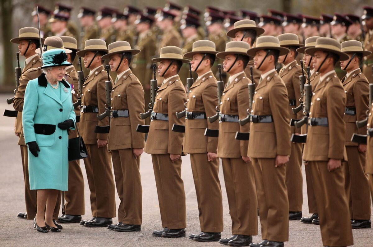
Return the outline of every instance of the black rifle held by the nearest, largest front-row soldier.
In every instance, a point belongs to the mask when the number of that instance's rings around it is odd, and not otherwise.
[[[294,122],[294,126],[296,128],[300,128],[303,124],[308,125],[308,116],[310,115],[310,108],[311,108],[311,99],[312,99],[312,86],[311,84],[304,85],[304,110],[303,110],[303,118],[299,121]],[[307,140],[307,134],[292,134],[290,140],[292,142],[297,143],[305,143]]]

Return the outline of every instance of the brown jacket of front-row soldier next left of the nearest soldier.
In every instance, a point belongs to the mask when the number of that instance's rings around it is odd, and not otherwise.
[[[266,86],[267,85],[267,86]],[[272,115],[272,123],[250,123],[248,157],[276,158],[290,155],[290,124],[288,92],[277,72],[259,83],[253,100],[254,115]]]

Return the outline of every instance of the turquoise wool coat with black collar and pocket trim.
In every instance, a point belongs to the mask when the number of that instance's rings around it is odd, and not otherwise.
[[[54,90],[60,91],[60,98]],[[31,190],[68,190],[69,136],[67,130],[57,127],[67,119],[75,123],[69,83],[62,80],[59,88],[53,89],[44,73],[30,80],[22,112],[23,134],[26,143],[36,141],[40,149],[38,157],[28,150]],[[75,124],[70,129],[75,129]]]

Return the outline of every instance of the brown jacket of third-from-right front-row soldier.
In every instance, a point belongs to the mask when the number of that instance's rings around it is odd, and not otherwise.
[[[238,115],[238,119],[247,117],[249,108],[249,93],[247,89],[251,80],[245,73],[238,75],[233,82],[229,83],[222,94],[220,113]],[[236,140],[236,132],[249,132],[250,125],[244,126],[234,122],[221,122],[219,124],[219,143],[217,156],[219,158],[241,158],[247,156],[249,142],[247,140]]]

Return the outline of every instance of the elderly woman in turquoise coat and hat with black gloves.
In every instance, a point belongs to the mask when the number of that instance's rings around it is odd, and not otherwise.
[[[71,65],[66,59],[62,49],[43,53],[44,73],[28,82],[22,112],[30,189],[38,190],[34,228],[43,233],[60,232],[53,210],[59,190],[68,190],[68,129],[75,129],[75,112],[70,85],[63,79]]]

